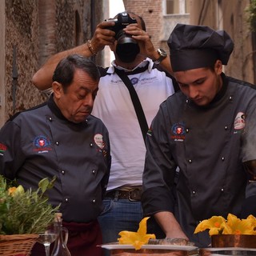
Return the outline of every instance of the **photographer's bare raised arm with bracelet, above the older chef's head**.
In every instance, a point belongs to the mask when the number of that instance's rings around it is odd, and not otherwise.
[[[64,50],[51,56],[46,63],[34,74],[32,82],[39,90],[46,90],[51,87],[52,76],[58,62],[70,54],[81,54],[84,57],[90,57],[104,49],[105,46],[114,44],[114,32],[107,30],[107,26],[113,26],[114,22],[101,22],[96,27],[93,38],[90,43],[86,42],[81,46],[70,50]]]

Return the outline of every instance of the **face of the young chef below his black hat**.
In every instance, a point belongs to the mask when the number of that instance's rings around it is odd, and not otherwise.
[[[198,106],[207,106],[222,87],[222,62],[214,70],[198,68],[174,73],[182,93]]]

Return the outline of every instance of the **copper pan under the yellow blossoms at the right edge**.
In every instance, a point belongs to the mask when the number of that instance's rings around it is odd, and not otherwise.
[[[215,234],[211,236],[212,247],[256,248],[256,235],[252,234]]]

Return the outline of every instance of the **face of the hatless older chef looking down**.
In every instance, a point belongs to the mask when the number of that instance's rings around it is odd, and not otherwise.
[[[83,122],[94,105],[94,98],[98,91],[98,81],[83,70],[75,70],[74,80],[63,91],[62,85],[58,82],[53,83],[54,101],[62,114],[70,122]]]

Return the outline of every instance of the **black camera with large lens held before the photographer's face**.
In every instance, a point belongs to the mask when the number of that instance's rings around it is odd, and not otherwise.
[[[115,32],[118,57],[122,62],[133,62],[139,53],[139,46],[136,40],[130,34],[126,34],[123,29],[129,24],[137,23],[136,18],[131,18],[127,13],[120,13],[117,18],[110,18],[106,21],[114,22],[114,26],[108,26],[106,29]]]

